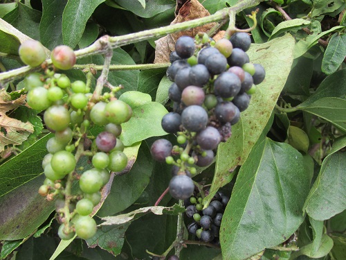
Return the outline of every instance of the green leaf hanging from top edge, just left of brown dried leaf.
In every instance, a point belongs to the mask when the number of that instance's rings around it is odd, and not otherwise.
[[[113,0],[122,8],[129,10],[130,12],[134,12],[134,14],[139,17],[149,18],[154,15],[158,15],[165,10],[175,8],[174,1],[170,0],[156,0],[156,1],[147,1],[145,8],[143,8],[140,1],[127,1],[127,0]]]

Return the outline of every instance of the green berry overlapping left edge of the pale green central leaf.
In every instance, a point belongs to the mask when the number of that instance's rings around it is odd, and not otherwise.
[[[106,105],[106,118],[109,122],[120,125],[129,121],[132,115],[132,110],[127,103],[120,100],[111,101]]]

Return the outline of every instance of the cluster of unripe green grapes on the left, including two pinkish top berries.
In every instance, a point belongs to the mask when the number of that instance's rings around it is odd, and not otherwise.
[[[30,42],[30,46],[38,46],[36,49],[40,45]],[[35,53],[36,60],[42,63],[41,52],[35,48],[29,52],[31,60],[25,52],[21,58],[30,66],[38,65],[39,62],[32,61],[35,61]],[[52,51],[52,61],[57,69],[70,69],[75,63],[75,54],[68,46],[57,46]],[[54,133],[46,144],[48,154],[42,161],[46,180],[39,187],[39,193],[47,200],[56,198],[61,239],[71,239],[75,234],[81,239],[90,239],[97,227],[89,215],[101,200],[100,189],[109,181],[111,171],[119,172],[127,166],[124,145],[118,137],[122,132],[121,123],[131,118],[131,107],[115,98],[116,88],[95,100],[86,83],[81,80],[71,83],[69,77],[48,68],[42,74],[26,76],[24,83],[28,105],[34,110],[44,110],[46,128]],[[96,137],[89,132],[93,125],[103,128]],[[80,148],[82,153],[78,152]],[[80,156],[88,156],[93,168],[87,171],[76,168],[76,157]],[[71,193],[74,181],[78,181],[80,188],[76,194]]]

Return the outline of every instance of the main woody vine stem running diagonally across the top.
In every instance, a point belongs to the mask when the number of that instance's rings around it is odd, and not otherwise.
[[[90,46],[84,49],[75,51],[75,55],[77,58],[82,58],[85,56],[107,53],[109,48],[116,49],[120,46],[124,46],[127,44],[142,42],[144,40],[149,40],[149,39],[157,38],[157,37],[163,37],[170,33],[185,31],[190,28],[202,26],[204,24],[210,24],[215,21],[224,21],[228,19],[228,15],[230,12],[240,12],[246,8],[257,6],[262,1],[264,0],[239,1],[237,4],[235,4],[234,6],[230,8],[224,8],[222,10],[215,12],[214,15],[209,15],[199,19],[194,19],[192,21],[184,21],[183,23],[179,23],[179,24],[172,24],[169,26],[161,27],[161,28],[154,28],[154,29],[150,29],[146,31],[141,31],[138,33],[130,33],[128,35],[121,35],[116,37],[109,37],[108,35],[106,35],[106,37],[104,36],[101,37],[99,40],[95,41]],[[1,21],[5,22],[3,20]],[[104,44],[104,41],[106,40],[106,38],[108,43]],[[108,48],[107,46],[110,46],[110,47]],[[51,66],[52,60],[48,59],[44,62],[44,64],[46,66]],[[0,73],[0,87],[4,87],[6,83],[12,80],[15,80],[16,78],[21,78],[28,73],[32,73],[32,72],[40,71],[40,70],[42,70],[42,67],[25,66],[19,69],[13,69],[11,71],[5,71],[3,73]]]

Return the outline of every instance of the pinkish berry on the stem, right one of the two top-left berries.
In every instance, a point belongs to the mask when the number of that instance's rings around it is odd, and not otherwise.
[[[73,49],[66,45],[56,46],[51,53],[51,59],[57,69],[63,70],[71,69],[76,60]]]

